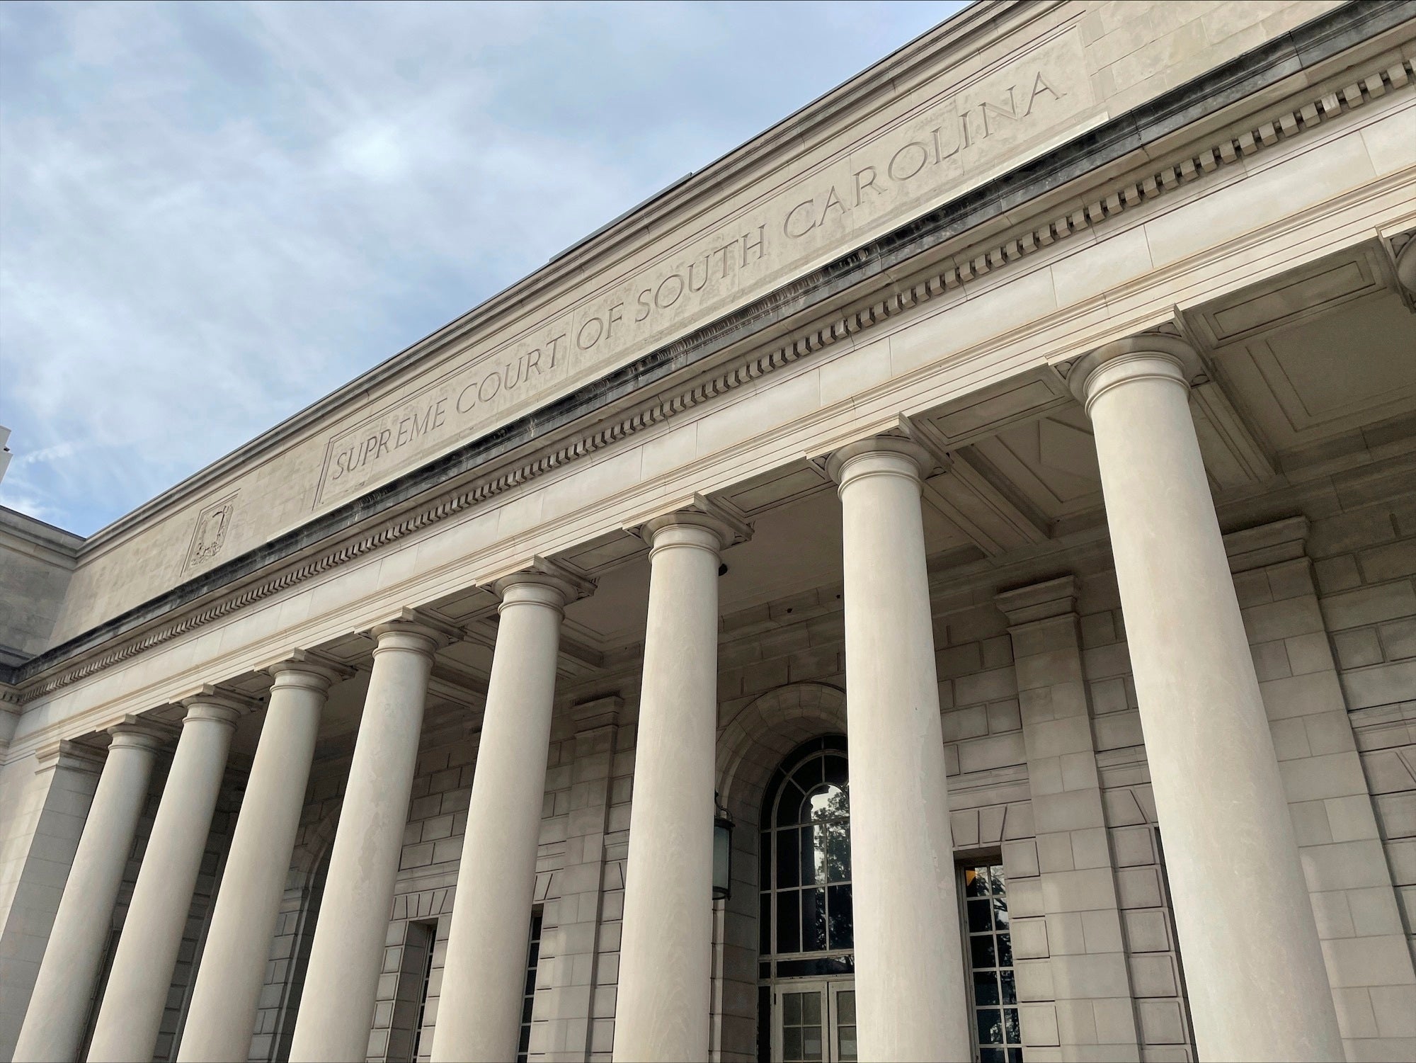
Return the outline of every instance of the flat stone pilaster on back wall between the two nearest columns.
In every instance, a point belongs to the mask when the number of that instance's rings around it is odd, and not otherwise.
[[[1000,594],[1037,828],[1037,884],[1010,880],[1022,1037],[1032,1060],[1138,1059],[1116,867],[1082,670],[1076,577]],[[1178,972],[1170,972],[1171,979]]]

